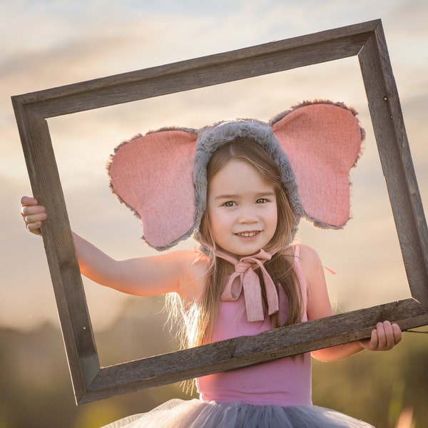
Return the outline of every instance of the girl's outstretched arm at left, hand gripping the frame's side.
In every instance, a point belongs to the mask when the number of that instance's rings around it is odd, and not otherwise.
[[[21,199],[21,214],[26,228],[41,235],[46,210],[34,198]],[[96,246],[73,233],[74,245],[81,272],[101,285],[133,295],[161,295],[167,292],[181,294],[182,285],[188,282],[185,266],[191,264],[188,251],[176,251],[146,258],[114,260]],[[194,255],[193,255],[194,258]]]

